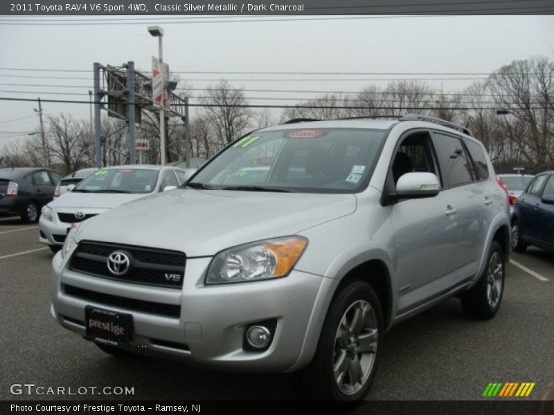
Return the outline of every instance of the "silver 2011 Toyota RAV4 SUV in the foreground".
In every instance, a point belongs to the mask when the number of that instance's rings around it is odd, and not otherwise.
[[[314,396],[359,400],[393,324],[452,296],[497,313],[509,240],[507,194],[463,127],[289,122],[74,225],[51,313],[108,353],[301,371]]]

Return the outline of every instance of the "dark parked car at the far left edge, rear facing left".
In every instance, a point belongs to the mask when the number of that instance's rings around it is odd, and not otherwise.
[[[0,214],[16,214],[35,223],[61,178],[54,170],[37,167],[0,169]]]

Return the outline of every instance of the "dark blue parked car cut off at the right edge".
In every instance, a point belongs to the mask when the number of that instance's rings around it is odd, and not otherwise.
[[[512,248],[554,251],[554,170],[538,174],[519,196],[512,215]]]

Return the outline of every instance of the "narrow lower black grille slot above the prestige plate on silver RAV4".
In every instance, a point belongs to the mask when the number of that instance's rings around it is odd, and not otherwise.
[[[118,308],[125,308],[129,311],[164,315],[166,317],[179,318],[181,315],[181,306],[175,306],[173,304],[162,304],[143,301],[141,299],[117,297],[116,295],[98,293],[96,291],[85,290],[83,288],[78,288],[68,284],[63,284],[63,288],[66,295],[71,295],[71,297],[84,299],[105,306],[114,306]]]

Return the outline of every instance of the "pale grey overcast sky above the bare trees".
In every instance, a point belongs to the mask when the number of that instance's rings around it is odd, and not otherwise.
[[[81,26],[8,26],[0,24],[0,68],[92,70],[93,62],[120,65],[133,60],[149,71],[157,40],[146,28],[162,26],[164,60],[171,71],[276,71],[364,73],[490,73],[515,59],[542,55],[554,59],[554,16],[390,17],[314,21],[241,21],[236,23],[169,24],[162,18],[140,24],[121,24],[122,18],[79,17],[111,24]],[[183,17],[184,18],[184,17]],[[6,18],[8,19],[8,18]],[[6,21],[4,19],[4,21]],[[18,18],[10,17],[12,21]],[[46,23],[46,17],[35,17]],[[71,19],[55,17],[61,23]],[[75,19],[75,18],[73,18]],[[136,19],[136,17],[134,17]],[[175,21],[175,18],[169,18]],[[222,17],[223,19],[223,17]],[[226,17],[226,20],[231,18]],[[256,19],[241,17],[241,20]],[[269,17],[258,19],[271,20]],[[292,17],[290,18],[292,19]],[[201,19],[198,19],[201,20]],[[74,20],[73,20],[74,21]],[[34,77],[29,77],[34,76]],[[84,80],[47,79],[39,76],[87,77]],[[245,89],[357,91],[368,84],[386,85],[374,79],[413,75],[217,75],[180,74],[194,88],[205,88],[221,77],[272,81],[233,81]],[[484,77],[449,75],[445,77]],[[438,77],[421,75],[421,77]],[[277,82],[297,78],[303,81]],[[355,78],[357,81],[316,79]],[[193,81],[193,79],[195,81]],[[360,80],[366,79],[366,80]],[[459,91],[472,80],[429,80],[445,92]],[[88,100],[92,73],[8,71],[0,69],[0,97]],[[21,85],[6,85],[21,84]],[[52,85],[52,86],[34,86]],[[66,88],[63,86],[78,86]],[[19,91],[19,92],[8,92]],[[21,91],[30,91],[23,93]],[[51,95],[77,93],[81,95]],[[198,95],[200,91],[194,91]],[[311,98],[310,94],[245,92],[247,97]],[[197,100],[191,100],[195,102]],[[297,100],[259,101],[255,104],[296,104]],[[34,131],[36,103],[0,101],[0,149],[10,132]],[[88,104],[44,103],[44,112],[89,117]],[[30,116],[30,117],[28,117]],[[6,122],[14,118],[24,118]]]

